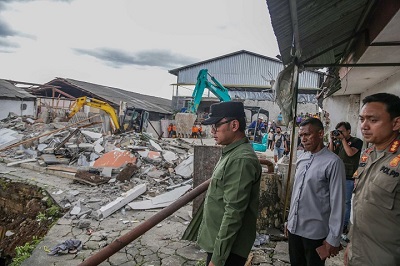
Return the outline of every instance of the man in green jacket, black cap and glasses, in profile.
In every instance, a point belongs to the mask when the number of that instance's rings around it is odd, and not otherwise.
[[[244,265],[256,237],[261,165],[244,131],[243,103],[211,106],[204,125],[211,125],[224,145],[208,187],[197,243],[208,266]]]

